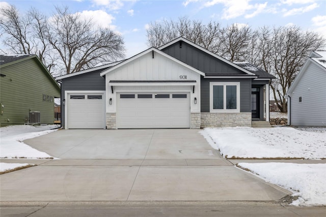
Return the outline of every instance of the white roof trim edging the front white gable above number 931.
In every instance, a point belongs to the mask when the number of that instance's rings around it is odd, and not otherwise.
[[[205,73],[199,71],[198,69],[195,69],[195,68],[183,63],[182,61],[180,61],[180,60],[178,60],[178,59],[176,59],[176,58],[174,58],[174,57],[166,54],[165,52],[162,52],[162,51],[160,51],[160,50],[158,50],[157,48],[154,48],[154,47],[151,47],[151,48],[149,48],[149,49],[147,49],[147,50],[145,50],[145,51],[143,51],[143,52],[141,52],[141,53],[139,53],[137,55],[134,55],[134,56],[122,61],[121,63],[119,63],[119,64],[117,64],[117,65],[115,65],[115,66],[113,66],[113,67],[111,67],[109,69],[104,70],[102,73],[100,73],[100,75],[104,76],[108,72],[111,72],[112,70],[115,70],[115,69],[117,69],[117,68],[119,68],[119,67],[121,67],[121,66],[123,66],[123,65],[125,65],[127,63],[130,63],[132,60],[137,59],[137,58],[139,58],[139,57],[141,57],[143,55],[146,55],[149,52],[159,53],[160,55],[165,56],[165,57],[175,61],[176,63],[178,63],[178,64],[180,64],[180,65],[182,65],[182,66],[184,66],[184,67],[186,67],[186,68],[188,68],[188,69],[190,69],[190,70],[192,70],[194,72],[197,72],[198,74],[200,74],[202,76],[205,76]]]

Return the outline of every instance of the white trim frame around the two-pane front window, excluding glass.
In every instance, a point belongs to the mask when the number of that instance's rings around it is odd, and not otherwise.
[[[223,86],[223,108],[213,109],[213,86]],[[226,86],[236,86],[236,109],[226,109]],[[239,113],[240,112],[240,82],[209,82],[209,112]]]

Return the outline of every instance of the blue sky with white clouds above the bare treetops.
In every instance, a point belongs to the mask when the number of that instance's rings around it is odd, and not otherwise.
[[[20,12],[34,7],[48,16],[55,11],[55,6],[68,6],[72,13],[93,17],[98,25],[110,26],[122,34],[126,57],[148,48],[146,27],[150,22],[164,18],[177,20],[181,16],[201,20],[203,23],[218,21],[222,26],[238,23],[257,28],[263,25],[294,24],[304,30],[314,30],[326,38],[325,0],[14,0],[2,1],[0,4],[0,7],[13,4]]]

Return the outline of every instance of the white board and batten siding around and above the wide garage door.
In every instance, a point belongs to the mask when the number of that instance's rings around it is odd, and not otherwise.
[[[119,66],[119,65],[118,65]],[[186,76],[185,79],[180,79],[180,76]],[[200,104],[200,74],[198,72],[193,71],[180,63],[157,53],[154,51],[153,53],[148,52],[145,53],[138,58],[131,60],[129,63],[117,67],[116,69],[105,74],[106,83],[108,84],[106,89],[106,102],[108,99],[112,98],[112,105],[106,106],[106,112],[117,112],[117,100],[116,100],[116,91],[185,91],[190,92],[191,102],[196,97],[198,99],[198,103],[196,105],[191,105],[192,112],[199,112],[199,104]],[[167,83],[166,85],[157,85],[157,82],[153,83],[153,85],[132,85],[129,86],[116,86],[114,87],[115,91],[112,93],[110,85],[114,86],[114,83],[110,84],[110,81],[194,81],[195,85],[195,93],[193,93],[193,86],[186,85],[182,86],[181,83],[178,85],[172,85]],[[107,104],[107,103],[106,103]]]

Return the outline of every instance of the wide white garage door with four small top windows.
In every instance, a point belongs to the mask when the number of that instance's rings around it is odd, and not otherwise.
[[[190,128],[189,93],[118,93],[117,128]]]

